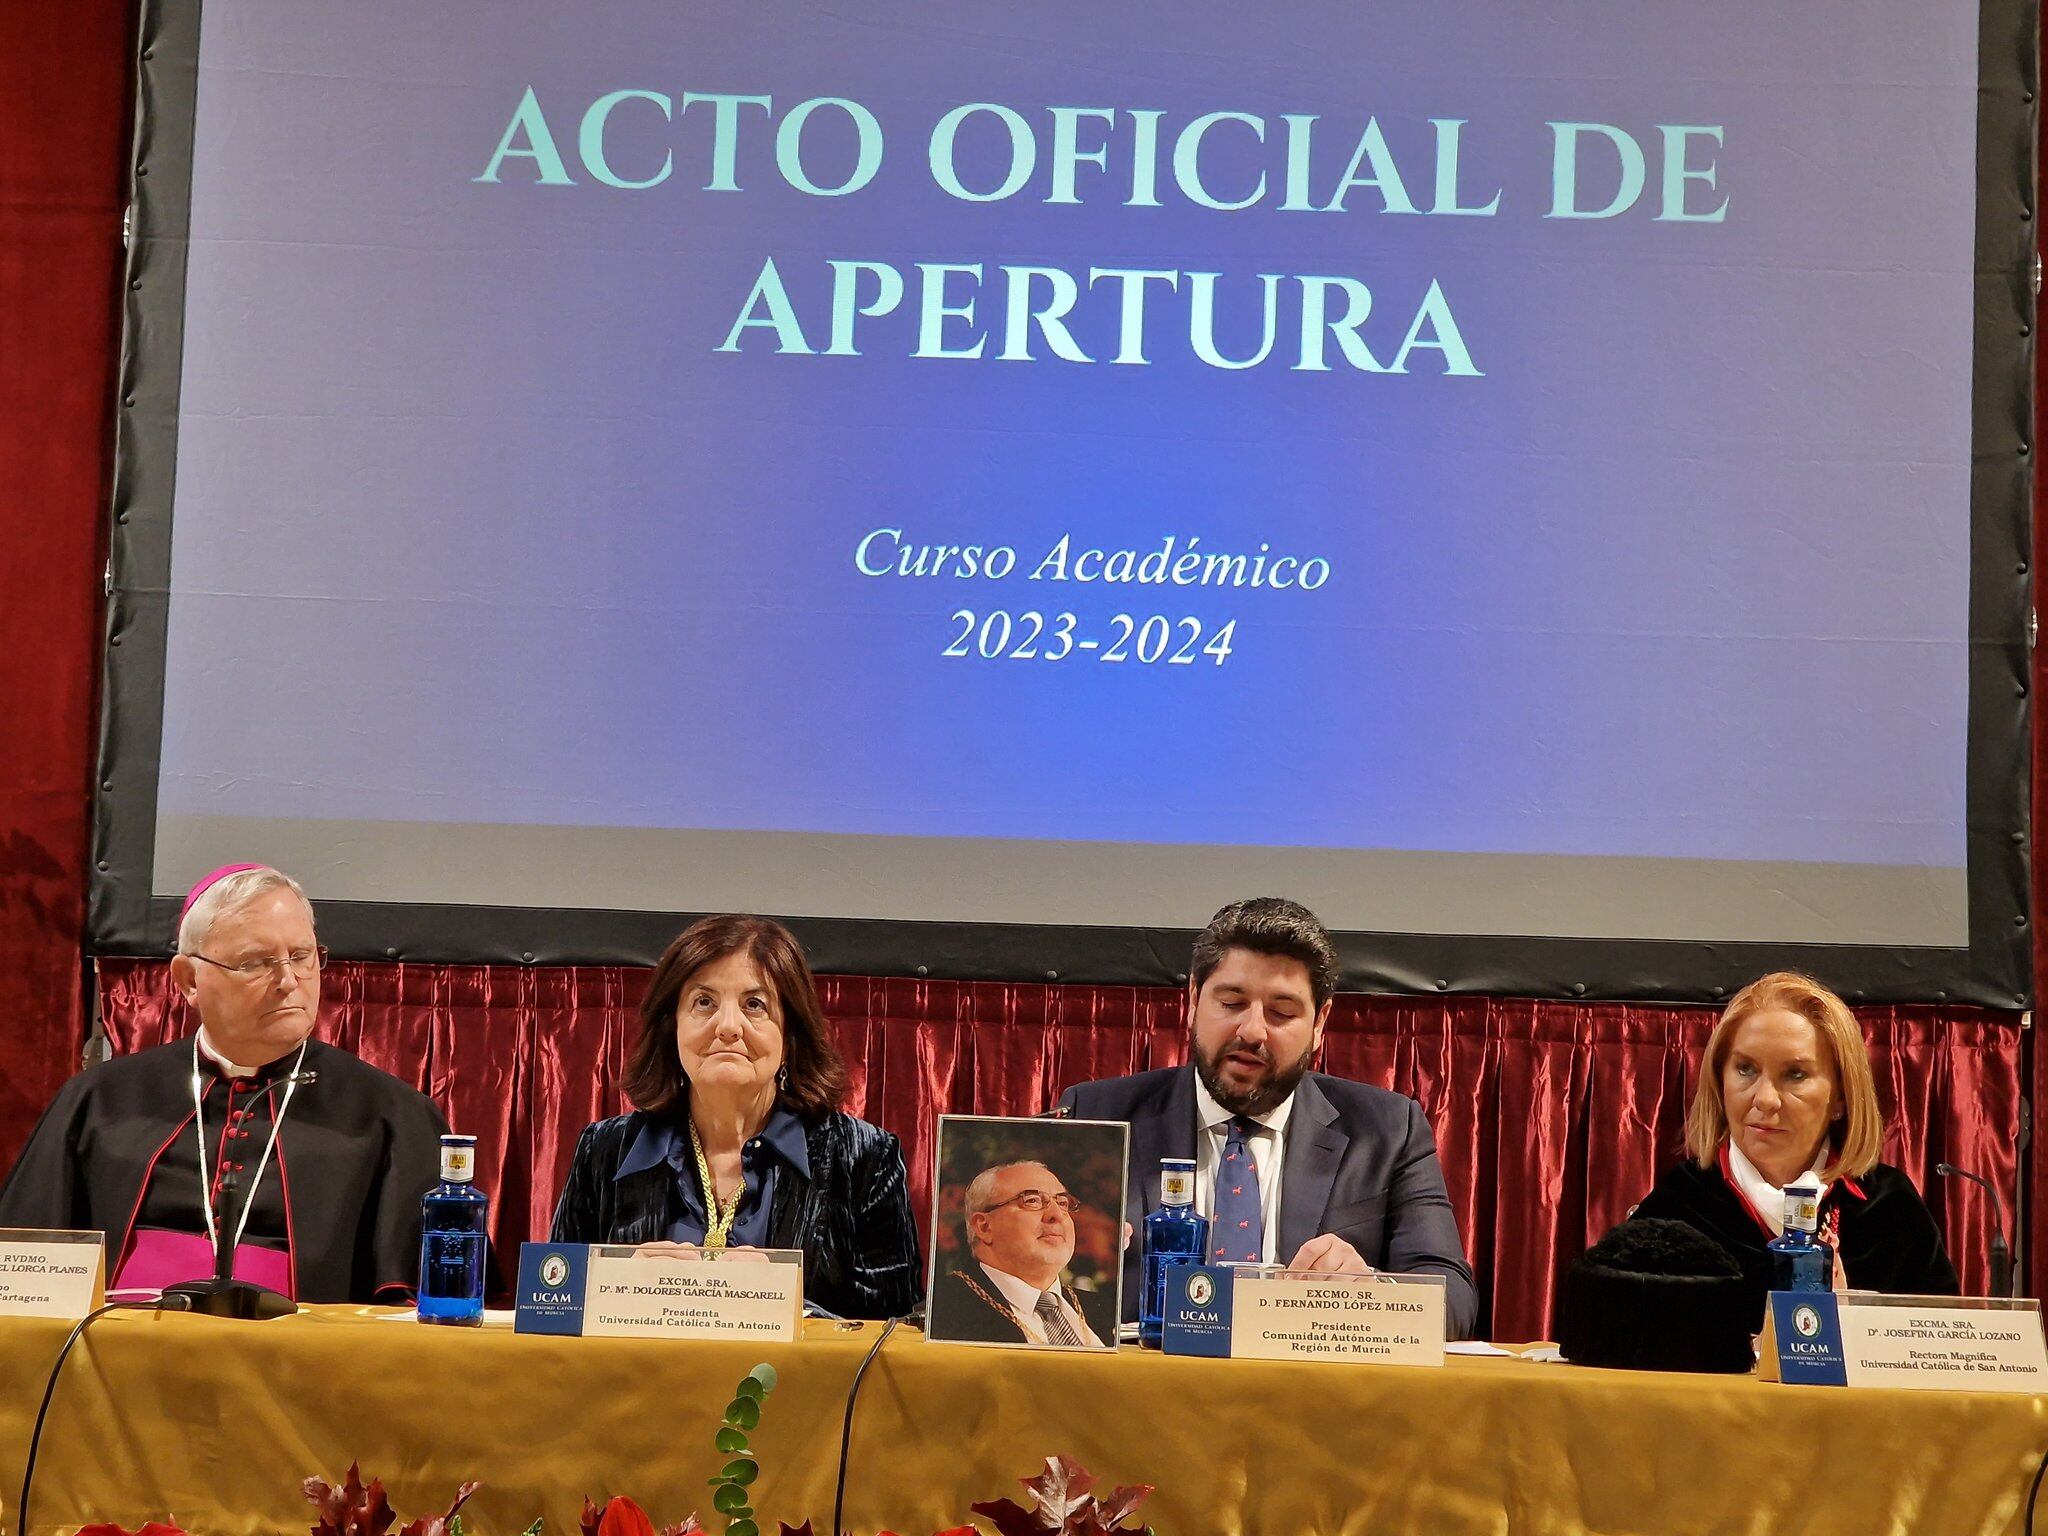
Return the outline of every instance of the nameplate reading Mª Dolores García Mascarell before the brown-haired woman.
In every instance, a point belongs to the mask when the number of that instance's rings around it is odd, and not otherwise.
[[[512,1327],[614,1339],[795,1339],[803,1253],[641,1257],[606,1243],[520,1243]]]

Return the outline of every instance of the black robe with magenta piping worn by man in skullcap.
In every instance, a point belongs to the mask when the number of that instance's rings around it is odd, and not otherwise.
[[[229,1233],[285,1096],[264,1085],[295,1055],[242,1090],[199,1057],[207,1171]],[[315,1077],[279,1122],[244,1243],[287,1251],[297,1300],[403,1300],[418,1284],[420,1196],[440,1178],[446,1120],[418,1090],[332,1044],[309,1040],[299,1071]],[[57,1090],[0,1186],[0,1227],[106,1233],[109,1284],[137,1229],[203,1237],[193,1040],[104,1061]]]

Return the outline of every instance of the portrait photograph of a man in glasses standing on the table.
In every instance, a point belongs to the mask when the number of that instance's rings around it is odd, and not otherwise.
[[[1114,1350],[1130,1126],[942,1114],[936,1155],[926,1337]]]

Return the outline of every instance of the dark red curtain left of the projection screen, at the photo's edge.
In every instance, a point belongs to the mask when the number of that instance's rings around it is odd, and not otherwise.
[[[131,12],[0,6],[0,1167],[84,1044]]]

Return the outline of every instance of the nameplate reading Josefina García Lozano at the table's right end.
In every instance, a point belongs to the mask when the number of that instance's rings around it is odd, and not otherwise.
[[[1794,1386],[2044,1393],[2038,1300],[1774,1290],[1757,1372]]]

